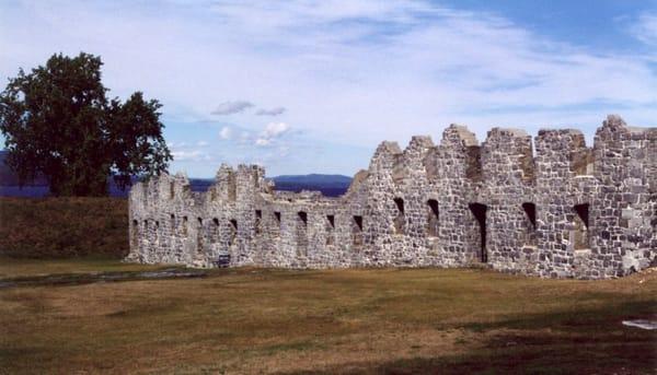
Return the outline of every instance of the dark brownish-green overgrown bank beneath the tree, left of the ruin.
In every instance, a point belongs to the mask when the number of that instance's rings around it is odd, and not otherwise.
[[[0,198],[0,254],[28,258],[124,257],[124,198]]]

